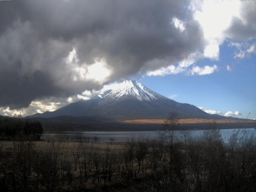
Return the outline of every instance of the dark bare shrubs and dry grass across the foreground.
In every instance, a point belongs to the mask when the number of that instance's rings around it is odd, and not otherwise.
[[[256,140],[246,131],[224,142],[213,126],[202,136],[176,132],[170,116],[158,140],[126,143],[0,142],[0,191],[251,192]],[[178,140],[178,134],[184,140]]]

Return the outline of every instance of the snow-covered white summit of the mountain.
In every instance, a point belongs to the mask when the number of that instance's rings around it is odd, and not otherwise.
[[[136,98],[140,101],[156,100],[163,98],[163,96],[156,92],[146,88],[138,81],[125,80],[122,83],[112,84],[102,89],[102,98],[106,99],[118,99],[118,98]]]

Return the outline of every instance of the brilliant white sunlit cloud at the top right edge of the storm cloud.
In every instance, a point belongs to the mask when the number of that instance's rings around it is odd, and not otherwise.
[[[192,1],[190,8],[194,10],[194,19],[204,32],[204,56],[218,60],[219,46],[228,37],[225,31],[231,26],[232,18],[241,18],[240,1]]]

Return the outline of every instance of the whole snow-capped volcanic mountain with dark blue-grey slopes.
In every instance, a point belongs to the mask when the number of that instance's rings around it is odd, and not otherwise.
[[[178,118],[226,118],[208,114],[191,104],[170,100],[134,80],[106,86],[89,100],[80,100],[53,112],[34,114],[30,118],[87,116],[112,120],[165,119],[170,112],[176,112]]]

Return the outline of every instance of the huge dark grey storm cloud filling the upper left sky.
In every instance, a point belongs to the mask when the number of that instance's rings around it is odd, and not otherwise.
[[[0,3],[0,106],[100,88],[74,81],[76,66],[104,58],[112,82],[173,64],[204,42],[189,2],[177,0],[12,0]],[[184,22],[180,32],[173,18]],[[65,58],[73,47],[79,63]],[[154,62],[164,60],[165,62]],[[166,62],[167,61],[167,62]]]

